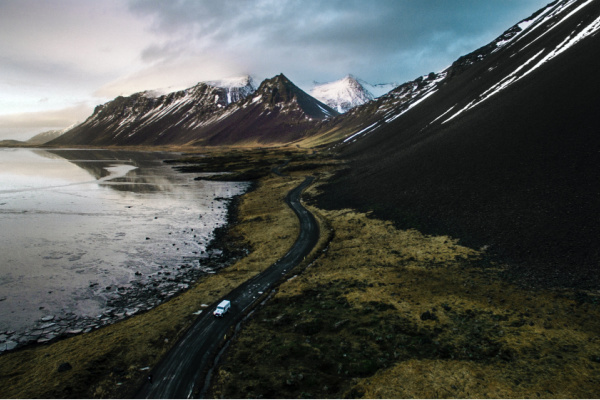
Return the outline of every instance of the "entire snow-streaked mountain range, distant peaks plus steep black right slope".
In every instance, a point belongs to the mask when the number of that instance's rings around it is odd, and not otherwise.
[[[349,168],[322,206],[451,234],[536,284],[597,286],[598,30],[599,1],[558,0],[383,95],[352,76],[312,96],[282,74],[200,83],[118,97],[50,144],[333,151]]]

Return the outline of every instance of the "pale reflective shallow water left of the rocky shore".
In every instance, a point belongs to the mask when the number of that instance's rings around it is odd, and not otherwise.
[[[247,184],[194,181],[162,162],[176,157],[0,149],[0,334],[98,316],[165,269],[203,268]]]

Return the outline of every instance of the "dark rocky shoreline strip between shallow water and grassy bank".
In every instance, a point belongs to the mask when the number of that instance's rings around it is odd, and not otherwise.
[[[72,311],[61,315],[50,313],[24,329],[0,331],[0,355],[89,333],[148,312],[185,292],[202,277],[230,266],[247,254],[246,249],[242,248],[234,251],[235,246],[230,243],[228,231],[237,223],[240,197],[250,193],[254,187],[255,184],[251,183],[242,194],[221,199],[226,203],[225,222],[213,230],[213,237],[207,243],[206,251],[198,254],[197,260],[174,260],[168,265],[161,265],[161,271],[156,276],[143,276],[136,272],[137,279],[131,280],[127,285],[107,286],[104,291],[114,292],[114,295],[103,302],[99,315],[77,315]],[[194,266],[196,261],[198,264]],[[90,283],[89,288],[98,288],[98,283]],[[4,298],[0,298],[0,302],[3,300]]]

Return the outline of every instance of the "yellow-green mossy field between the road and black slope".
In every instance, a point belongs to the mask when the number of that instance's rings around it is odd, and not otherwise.
[[[600,310],[501,279],[482,250],[317,210],[327,251],[234,339],[225,398],[597,398]]]

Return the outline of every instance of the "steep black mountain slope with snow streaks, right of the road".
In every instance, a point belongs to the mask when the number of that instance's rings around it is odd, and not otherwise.
[[[387,111],[333,120],[356,136],[322,204],[485,246],[536,284],[597,288],[599,17],[598,1],[552,3]]]

